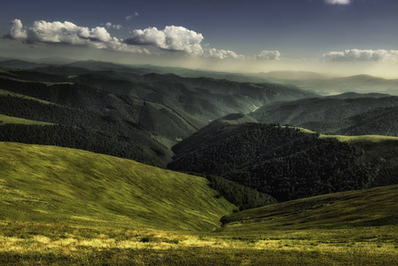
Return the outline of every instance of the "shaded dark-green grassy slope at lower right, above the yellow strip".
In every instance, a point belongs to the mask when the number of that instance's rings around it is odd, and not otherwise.
[[[269,231],[344,230],[398,225],[398,185],[339,192],[258,207],[222,218],[223,234],[252,235]],[[390,232],[393,234],[393,231]],[[352,234],[352,233],[351,233]],[[359,236],[357,236],[359,237]],[[386,239],[387,236],[373,236]],[[394,231],[395,243],[398,235]],[[393,239],[389,239],[394,241]]]

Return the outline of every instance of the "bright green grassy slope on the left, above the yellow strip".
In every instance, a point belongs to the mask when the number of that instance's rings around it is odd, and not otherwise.
[[[211,231],[234,209],[205,178],[56,146],[0,150],[1,220]]]

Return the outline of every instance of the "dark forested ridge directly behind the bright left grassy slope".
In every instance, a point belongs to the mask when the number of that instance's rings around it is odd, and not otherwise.
[[[12,92],[4,91],[0,113],[59,124],[3,125],[3,141],[63,145],[164,167],[171,160],[169,146],[196,130],[167,106],[137,98],[75,84],[1,82],[4,89],[19,94],[12,96]]]

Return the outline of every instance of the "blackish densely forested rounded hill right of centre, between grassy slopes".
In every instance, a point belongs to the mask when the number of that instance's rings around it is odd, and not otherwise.
[[[279,201],[366,188],[378,172],[355,146],[260,123],[213,121],[173,152],[168,168],[222,176]]]

